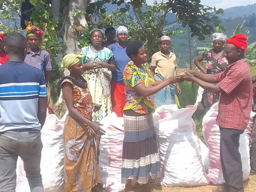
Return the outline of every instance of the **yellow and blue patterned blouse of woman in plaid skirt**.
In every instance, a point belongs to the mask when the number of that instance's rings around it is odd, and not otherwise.
[[[135,66],[130,61],[123,71],[123,81],[125,82],[126,103],[123,110],[133,110],[138,114],[151,114],[155,111],[154,95],[143,97],[136,90],[135,86],[143,83],[145,87],[155,85],[155,80],[151,76],[147,64],[142,64],[142,68]]]

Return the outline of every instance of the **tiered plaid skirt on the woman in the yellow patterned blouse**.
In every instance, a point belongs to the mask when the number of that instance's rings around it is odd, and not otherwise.
[[[160,160],[152,114],[124,114],[125,136],[122,157],[122,183],[128,179],[146,184],[160,178]]]

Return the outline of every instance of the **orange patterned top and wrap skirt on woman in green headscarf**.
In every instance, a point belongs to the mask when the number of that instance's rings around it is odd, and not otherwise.
[[[85,118],[92,120],[93,103],[88,88],[75,85],[70,79],[64,79],[73,85],[74,107]],[[96,146],[99,139],[91,128],[76,121],[69,115],[64,126],[64,172],[66,192],[91,192],[101,182]]]

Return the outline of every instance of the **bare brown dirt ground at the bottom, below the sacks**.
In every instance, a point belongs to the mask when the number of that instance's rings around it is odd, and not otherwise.
[[[160,187],[151,184],[151,188],[155,192],[212,192],[216,185],[198,186],[198,187]],[[250,175],[249,178],[244,181],[245,192],[256,192],[256,175]],[[136,190],[135,192],[139,192]],[[143,192],[143,190],[141,190]]]

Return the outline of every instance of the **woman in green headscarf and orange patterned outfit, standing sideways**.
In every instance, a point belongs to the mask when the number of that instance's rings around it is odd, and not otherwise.
[[[101,187],[96,146],[104,134],[100,124],[92,122],[92,112],[101,106],[93,104],[83,72],[83,54],[67,54],[62,66],[70,71],[62,83],[62,93],[69,114],[64,126],[65,192],[88,191]]]

